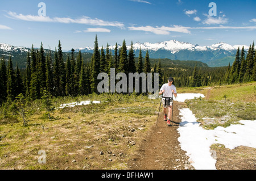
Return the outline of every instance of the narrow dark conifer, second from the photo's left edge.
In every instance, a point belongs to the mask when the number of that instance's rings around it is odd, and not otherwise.
[[[7,100],[13,101],[15,99],[15,73],[13,69],[13,61],[11,55],[7,65]]]

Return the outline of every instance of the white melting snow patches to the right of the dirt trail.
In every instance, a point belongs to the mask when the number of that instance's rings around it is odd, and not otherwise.
[[[174,100],[184,102],[185,99],[204,97],[201,94],[177,94]],[[256,120],[241,120],[241,124],[229,127],[217,127],[206,130],[196,122],[196,117],[188,108],[180,109],[181,123],[177,131],[181,149],[187,151],[189,162],[195,169],[215,170],[216,159],[212,157],[210,145],[223,144],[226,148],[237,146],[256,148]]]

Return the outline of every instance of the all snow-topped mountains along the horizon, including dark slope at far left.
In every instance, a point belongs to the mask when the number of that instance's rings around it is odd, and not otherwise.
[[[127,46],[129,50],[131,45]],[[228,66],[230,63],[233,64],[234,58],[238,47],[245,50],[248,50],[249,47],[246,45],[229,45],[224,42],[216,43],[210,46],[200,46],[193,45],[191,43],[170,40],[163,41],[159,43],[135,43],[133,44],[133,49],[135,57],[139,56],[139,50],[142,50],[142,56],[146,55],[146,51],[150,55],[150,58],[168,58],[171,60],[195,60],[201,61],[207,64],[208,66]],[[118,48],[121,48],[121,45],[118,45]],[[106,47],[104,47],[106,49]],[[109,49],[114,53],[115,45],[109,46]],[[78,53],[81,50],[81,53],[85,55],[85,58],[89,60],[90,53],[93,53],[93,47],[84,47],[75,49],[75,53]],[[30,52],[30,48],[26,47],[15,47],[10,44],[0,43],[0,56],[5,56],[8,59],[9,54],[14,58],[14,62],[19,62],[19,64],[24,65],[27,58],[27,52]],[[46,49],[46,52],[49,50]],[[64,52],[64,57],[67,56],[71,50]],[[53,53],[53,51],[52,51]],[[20,66],[20,65],[19,65]]]

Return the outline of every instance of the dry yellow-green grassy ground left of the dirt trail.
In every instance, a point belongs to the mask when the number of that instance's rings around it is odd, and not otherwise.
[[[27,127],[0,125],[0,169],[127,169],[158,113],[158,100],[143,99],[64,108],[52,121],[42,112]],[[38,162],[39,150],[46,164]]]

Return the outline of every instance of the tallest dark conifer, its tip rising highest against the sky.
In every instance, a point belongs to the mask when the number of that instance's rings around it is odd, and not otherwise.
[[[92,82],[91,82],[91,89],[92,92],[98,92],[97,86],[98,86],[98,74],[100,73],[100,58],[101,54],[98,50],[98,38],[97,35],[95,37],[94,41],[94,50],[93,50],[93,57],[92,57]]]

